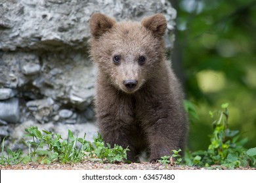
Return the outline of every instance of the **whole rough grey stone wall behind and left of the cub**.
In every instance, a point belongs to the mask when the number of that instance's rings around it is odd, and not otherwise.
[[[42,129],[95,133],[89,123],[95,120],[97,73],[89,58],[93,12],[117,20],[162,12],[167,48],[173,47],[176,11],[167,0],[0,0],[0,125],[7,126],[2,136],[9,129],[17,138],[28,121]]]

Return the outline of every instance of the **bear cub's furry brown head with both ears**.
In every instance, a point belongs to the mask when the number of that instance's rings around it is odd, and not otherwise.
[[[91,56],[106,84],[134,93],[156,78],[165,59],[166,28],[162,14],[148,16],[141,22],[116,22],[104,14],[93,14]]]

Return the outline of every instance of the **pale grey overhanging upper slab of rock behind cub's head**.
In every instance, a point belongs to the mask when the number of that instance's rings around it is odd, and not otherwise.
[[[1,0],[1,4],[0,49],[3,50],[63,50],[67,46],[84,49],[90,37],[88,22],[93,12],[115,16],[117,20],[139,20],[165,12],[170,30],[176,16],[167,0]]]

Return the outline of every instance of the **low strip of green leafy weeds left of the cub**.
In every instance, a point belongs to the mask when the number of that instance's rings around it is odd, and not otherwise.
[[[2,142],[1,165],[15,165],[20,162],[40,162],[40,163],[77,163],[81,161],[100,161],[114,163],[125,161],[127,150],[115,144],[114,148],[110,144],[104,146],[104,141],[100,134],[95,137],[94,142],[83,138],[75,137],[72,131],[68,130],[68,139],[62,139],[59,134],[50,131],[39,131],[36,126],[25,129],[24,137],[29,137],[32,141],[26,144],[29,146],[29,154],[22,157],[21,150],[13,152],[7,149],[7,156],[4,151],[4,140]]]

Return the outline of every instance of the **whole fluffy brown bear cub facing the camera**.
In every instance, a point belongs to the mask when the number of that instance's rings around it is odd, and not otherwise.
[[[186,112],[181,86],[165,58],[165,17],[116,22],[95,13],[90,28],[91,56],[98,66],[95,111],[104,141],[128,147],[131,161],[142,150],[150,161],[184,150]]]

